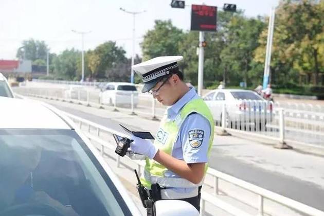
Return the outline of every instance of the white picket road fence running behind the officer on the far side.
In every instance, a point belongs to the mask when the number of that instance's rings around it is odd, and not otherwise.
[[[64,88],[50,90],[47,88],[24,87],[22,89],[19,91],[19,89],[16,88],[15,91],[25,95],[41,96],[49,99],[85,104],[87,106],[91,105],[102,108],[107,105],[102,103],[101,92],[89,91],[89,89],[79,90],[74,94],[74,99],[65,97],[66,89]],[[141,102],[146,103],[148,108],[152,107],[152,119],[162,116],[162,113],[158,115],[156,112],[156,104],[153,97],[142,97],[140,94],[139,98],[141,98]],[[284,143],[285,140],[289,140],[298,141],[301,145],[303,142],[305,146],[310,144],[319,148],[324,148],[324,113],[285,108],[283,111],[283,118],[279,118],[279,111],[281,112],[282,109],[278,109],[276,106],[278,104],[279,103],[264,101],[241,100],[240,104],[232,104],[231,107],[226,105],[225,111],[220,105],[213,106],[209,104],[209,107],[212,112],[219,112],[219,114],[213,113],[215,125],[222,127],[224,131],[231,131],[234,129],[236,131],[249,132],[253,135],[266,136],[270,139],[275,138],[275,140],[279,140],[279,143]],[[134,103],[132,102],[130,109],[117,107],[116,103],[113,105],[114,110],[130,110],[132,114],[137,113],[148,116],[148,112],[141,112],[135,109]],[[233,106],[237,110],[233,110]],[[226,115],[230,117],[228,118]],[[225,118],[224,124],[222,124],[223,117]],[[280,125],[282,126],[280,127]]]

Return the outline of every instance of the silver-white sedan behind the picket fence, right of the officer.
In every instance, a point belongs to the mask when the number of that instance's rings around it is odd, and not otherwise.
[[[203,97],[215,121],[222,119],[222,107],[226,105],[227,121],[237,123],[266,124],[272,121],[273,104],[257,93],[243,89],[215,89]],[[264,127],[264,125],[262,125]]]

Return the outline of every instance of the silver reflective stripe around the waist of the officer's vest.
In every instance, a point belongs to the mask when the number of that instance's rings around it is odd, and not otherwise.
[[[185,178],[181,177],[158,177],[151,175],[147,170],[144,170],[144,177],[152,184],[157,183],[160,186],[172,188],[198,188],[203,184],[204,179],[199,184],[193,184]]]

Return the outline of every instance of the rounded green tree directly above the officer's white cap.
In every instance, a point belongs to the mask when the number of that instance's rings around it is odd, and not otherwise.
[[[158,56],[179,55],[179,42],[183,38],[181,29],[174,27],[171,20],[156,20],[154,29],[149,30],[140,44],[143,53],[143,60],[152,59]]]

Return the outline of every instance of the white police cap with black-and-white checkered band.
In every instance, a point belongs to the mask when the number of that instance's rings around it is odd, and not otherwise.
[[[133,70],[144,82],[142,93],[150,91],[161,79],[178,71],[178,61],[182,59],[182,56],[161,56],[133,65]]]

